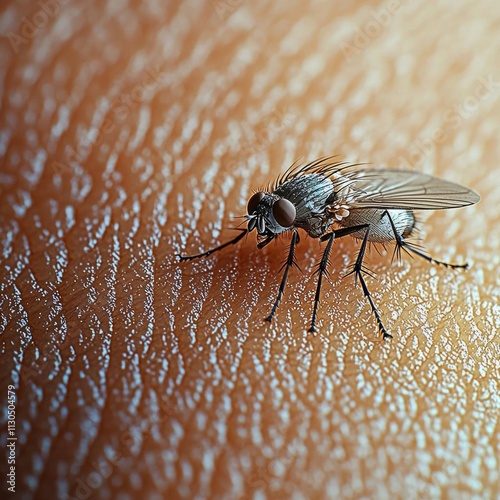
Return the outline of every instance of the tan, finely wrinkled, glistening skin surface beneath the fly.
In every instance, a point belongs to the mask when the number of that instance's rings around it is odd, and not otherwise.
[[[497,4],[57,5],[34,31],[39,5],[3,16],[25,40],[2,45],[16,492],[499,495]],[[368,255],[391,341],[341,279],[350,238],[317,335],[317,240],[301,233],[272,324],[287,237],[175,257],[232,237],[253,190],[329,154],[482,197],[421,223],[430,253],[469,271]]]

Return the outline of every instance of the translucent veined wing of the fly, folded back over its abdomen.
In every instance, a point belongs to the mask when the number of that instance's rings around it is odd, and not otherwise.
[[[342,175],[349,178],[346,198],[351,208],[441,210],[479,201],[464,186],[418,172],[363,169]]]

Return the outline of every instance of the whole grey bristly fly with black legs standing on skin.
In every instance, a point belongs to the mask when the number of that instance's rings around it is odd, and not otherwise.
[[[291,233],[283,277],[266,321],[271,321],[285,290],[288,272],[298,267],[295,248],[299,229],[326,243],[316,270],[318,283],[314,298],[310,332],[316,331],[316,318],[323,277],[328,276],[329,256],[335,239],[350,235],[361,240],[357,258],[347,274],[361,283],[383,338],[392,338],[366,285],[370,271],[363,265],[368,243],[394,243],[394,255],[401,250],[430,263],[466,269],[468,264],[450,264],[428,256],[420,245],[410,241],[415,232],[414,210],[443,210],[472,205],[479,196],[472,190],[430,175],[405,170],[366,168],[326,157],[299,166],[294,163],[267,190],[255,192],[247,204],[246,229],[234,239],[196,255],[178,255],[181,261],[198,259],[234,245],[253,230],[257,247],[264,248],[283,233]]]

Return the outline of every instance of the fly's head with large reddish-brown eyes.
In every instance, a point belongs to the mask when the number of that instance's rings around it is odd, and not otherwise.
[[[290,229],[297,215],[294,204],[274,193],[258,191],[247,204],[248,231],[257,229],[261,240],[269,240]]]

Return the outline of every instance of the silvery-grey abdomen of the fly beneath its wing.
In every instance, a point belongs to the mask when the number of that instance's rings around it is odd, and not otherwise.
[[[370,232],[368,241],[374,243],[389,243],[395,240],[394,229],[391,225],[387,212],[391,216],[396,231],[403,237],[407,237],[415,227],[415,216],[411,210],[380,210],[375,208],[365,208],[351,210],[350,215],[340,221],[343,227],[369,224]],[[360,230],[352,234],[354,238],[363,239],[365,230]]]

